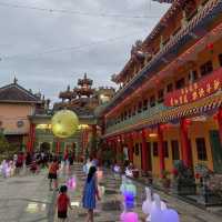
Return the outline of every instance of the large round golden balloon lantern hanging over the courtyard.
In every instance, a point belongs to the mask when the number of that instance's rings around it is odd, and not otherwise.
[[[69,138],[78,130],[79,119],[70,110],[57,112],[51,120],[52,132],[58,138]]]

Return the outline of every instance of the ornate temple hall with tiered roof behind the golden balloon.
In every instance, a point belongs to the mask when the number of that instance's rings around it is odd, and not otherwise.
[[[90,153],[92,140],[99,138],[101,129],[98,127],[95,109],[107,103],[114,94],[113,88],[92,88],[93,81],[87,77],[78,80],[78,87],[71,90],[68,85],[65,91],[59,93],[60,102],[53,104],[52,110],[36,112],[30,117],[32,122],[33,149],[48,149],[52,152],[62,153],[70,150],[77,158],[82,158],[85,152]],[[79,118],[78,131],[68,139],[59,139],[52,134],[51,118],[59,110],[72,110]],[[97,142],[94,142],[97,143]],[[95,149],[95,148],[94,148]]]

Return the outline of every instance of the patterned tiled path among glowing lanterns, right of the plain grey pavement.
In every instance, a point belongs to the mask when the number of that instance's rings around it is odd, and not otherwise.
[[[81,196],[85,176],[82,172],[82,167],[78,164],[74,164],[73,172],[77,175],[77,190],[70,191],[70,196],[72,204],[75,206],[73,211],[69,212],[69,221],[83,222],[85,221],[87,214],[85,210],[81,208]],[[62,180],[63,182],[65,181],[64,178]],[[121,184],[120,176],[107,172],[104,173],[101,184],[105,188],[105,194],[102,196],[101,202],[98,203],[94,221],[119,221],[121,214],[121,196],[119,194]],[[141,205],[144,199],[144,186],[139,183],[135,185],[138,188],[138,198],[134,211],[139,213],[141,221],[143,221],[144,214],[141,211]],[[222,222],[222,218],[216,216],[215,214],[211,214],[210,212],[195,208],[194,205],[178,200],[176,198],[167,195],[162,192],[158,193],[168,203],[169,208],[174,208],[178,210],[181,216],[181,222]]]

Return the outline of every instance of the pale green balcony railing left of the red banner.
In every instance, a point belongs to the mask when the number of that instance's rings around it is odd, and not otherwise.
[[[141,113],[137,113],[135,115],[131,117],[130,119],[128,120],[124,120],[118,124],[114,124],[112,127],[109,127],[107,129],[107,133],[112,133],[117,130],[121,130],[123,128],[127,128],[129,125],[133,125],[135,123],[140,123],[142,122],[143,120],[145,119],[149,119],[150,117],[152,117],[153,114],[157,114],[161,111],[164,111],[167,110],[168,108],[163,105],[163,103],[160,103],[160,104],[157,104],[155,107],[153,108],[148,108],[148,110],[145,111],[142,111]]]

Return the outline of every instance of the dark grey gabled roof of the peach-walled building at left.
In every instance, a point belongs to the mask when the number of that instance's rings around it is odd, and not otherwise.
[[[42,103],[42,100],[41,97],[18,84],[14,78],[13,83],[0,88],[0,102]]]

